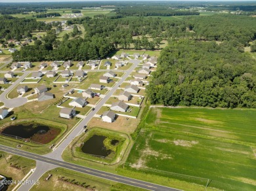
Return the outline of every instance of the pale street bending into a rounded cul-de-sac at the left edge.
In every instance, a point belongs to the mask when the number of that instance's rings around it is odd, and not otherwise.
[[[16,80],[9,88],[7,88],[1,95],[0,95],[0,101],[2,101],[5,104],[5,107],[13,108],[13,107],[20,107],[28,102],[28,99],[26,97],[17,97],[14,99],[7,99],[7,94],[11,92],[11,90],[18,85],[28,74],[30,71],[25,71],[24,75],[22,75],[20,78]]]

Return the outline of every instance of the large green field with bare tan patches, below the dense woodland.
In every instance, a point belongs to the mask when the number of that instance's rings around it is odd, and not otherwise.
[[[129,168],[204,185],[172,173],[210,179],[209,187],[221,190],[256,190],[255,116],[249,109],[150,109]]]

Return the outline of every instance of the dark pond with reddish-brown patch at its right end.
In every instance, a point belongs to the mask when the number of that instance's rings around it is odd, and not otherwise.
[[[11,137],[30,139],[37,143],[46,144],[51,142],[60,133],[60,130],[42,124],[16,124],[7,126],[1,133]]]

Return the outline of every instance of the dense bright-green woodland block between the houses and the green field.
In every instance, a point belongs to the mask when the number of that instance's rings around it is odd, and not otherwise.
[[[256,108],[256,65],[224,42],[171,41],[147,88],[151,103]]]

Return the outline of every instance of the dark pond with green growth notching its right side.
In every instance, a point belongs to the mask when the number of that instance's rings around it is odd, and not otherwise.
[[[84,144],[81,150],[86,154],[93,154],[96,156],[108,156],[112,150],[107,149],[104,145],[105,136],[102,135],[93,135],[88,139]]]

